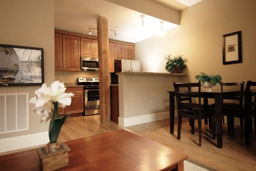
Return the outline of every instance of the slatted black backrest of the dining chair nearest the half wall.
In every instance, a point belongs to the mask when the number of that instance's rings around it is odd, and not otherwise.
[[[176,104],[178,112],[181,110],[188,110],[192,107],[198,108],[199,115],[201,114],[201,83],[173,83]],[[182,88],[182,90],[181,90]],[[184,88],[187,90],[185,91]],[[191,92],[191,88],[198,89],[198,92]],[[192,98],[198,101],[198,103],[192,103]],[[184,102],[183,100],[189,100]]]

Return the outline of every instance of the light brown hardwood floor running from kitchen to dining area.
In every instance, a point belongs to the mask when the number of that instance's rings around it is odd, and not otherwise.
[[[197,125],[196,122],[195,125]],[[186,153],[190,159],[220,171],[256,170],[256,138],[254,133],[251,133],[251,145],[247,146],[244,140],[244,130],[240,126],[235,126],[234,132],[228,135],[226,124],[223,125],[223,148],[219,149],[216,147],[217,141],[211,139],[208,125],[204,124],[202,124],[202,147],[199,147],[197,126],[195,126],[195,135],[192,135],[186,119],[182,120],[181,140],[177,140],[177,123],[174,127],[174,134],[171,135],[169,119],[122,128],[111,121],[101,123],[99,115],[92,115],[68,118],[61,129],[58,141],[65,142],[120,129],[137,133],[160,144],[175,148]],[[5,153],[0,153],[0,155],[3,154]]]

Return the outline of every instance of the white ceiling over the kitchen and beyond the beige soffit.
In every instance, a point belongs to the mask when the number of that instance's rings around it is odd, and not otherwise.
[[[186,5],[177,3],[175,0],[155,1],[169,7],[174,6],[173,8],[178,10],[187,8]],[[190,2],[191,0],[186,1]],[[142,13],[104,0],[54,0],[55,29],[88,35],[88,28],[97,28],[97,17],[99,15],[106,16],[108,18],[108,28],[116,30],[116,36],[113,32],[109,32],[110,39],[136,43],[157,35],[161,29],[161,19],[145,15],[144,26],[142,26],[142,18],[140,18]],[[167,31],[177,26],[164,21],[162,28]],[[91,30],[91,32],[92,35],[97,36],[97,30]]]

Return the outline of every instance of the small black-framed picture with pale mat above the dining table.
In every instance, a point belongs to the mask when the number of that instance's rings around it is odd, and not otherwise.
[[[223,65],[242,62],[241,31],[222,36]]]

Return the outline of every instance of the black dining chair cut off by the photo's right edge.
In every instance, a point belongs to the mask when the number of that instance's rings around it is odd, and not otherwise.
[[[250,145],[250,122],[254,118],[254,132],[256,136],[256,82],[248,81],[245,88],[244,108],[223,108],[223,115],[244,119],[245,142]]]

